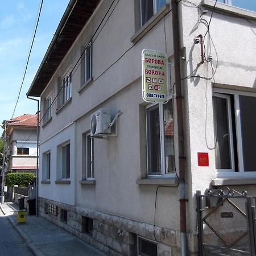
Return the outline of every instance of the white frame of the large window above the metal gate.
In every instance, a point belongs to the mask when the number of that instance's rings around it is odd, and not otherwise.
[[[256,93],[253,92],[244,92],[238,90],[230,90],[230,89],[221,89],[214,88],[213,95],[220,94],[230,94],[234,96],[234,115],[235,115],[235,123],[236,123],[236,141],[237,141],[237,158],[238,158],[238,171],[236,170],[216,170],[216,177],[224,178],[224,177],[256,177],[255,171],[245,171],[243,168],[243,146],[242,146],[242,133],[241,133],[241,117],[240,117],[240,105],[239,105],[239,96],[250,96],[256,97]],[[226,95],[225,95],[226,96]],[[225,97],[223,96],[223,97]],[[230,108],[230,106],[229,106]],[[231,109],[230,109],[231,114]],[[230,117],[230,116],[229,116]],[[229,126],[231,125],[231,119],[229,120]],[[234,150],[233,150],[233,160],[234,161]]]

